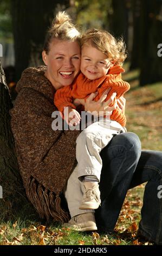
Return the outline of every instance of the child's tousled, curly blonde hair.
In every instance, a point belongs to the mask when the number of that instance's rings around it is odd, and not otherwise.
[[[99,29],[88,29],[82,35],[81,47],[83,45],[91,45],[106,54],[109,60],[122,64],[127,57],[125,43],[122,39],[116,40],[113,35],[107,31]]]

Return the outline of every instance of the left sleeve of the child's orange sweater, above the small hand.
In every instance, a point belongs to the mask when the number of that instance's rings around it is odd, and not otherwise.
[[[63,114],[64,107],[72,107],[76,109],[75,105],[73,104],[71,86],[64,86],[56,90],[56,93],[54,96],[54,105],[57,107],[57,109],[59,109],[59,111],[62,114]]]

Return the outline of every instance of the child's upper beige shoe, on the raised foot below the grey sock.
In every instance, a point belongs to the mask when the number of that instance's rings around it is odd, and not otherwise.
[[[101,203],[99,184],[95,182],[84,182],[83,200],[79,209],[98,209]]]

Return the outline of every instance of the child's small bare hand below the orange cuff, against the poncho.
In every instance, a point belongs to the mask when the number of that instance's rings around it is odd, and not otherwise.
[[[75,126],[80,123],[81,117],[80,114],[76,111],[76,109],[72,107],[65,107],[64,119],[66,120],[69,126]]]

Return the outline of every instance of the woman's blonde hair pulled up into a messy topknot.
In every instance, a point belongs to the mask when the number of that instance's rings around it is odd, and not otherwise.
[[[64,11],[59,11],[49,28],[44,41],[43,50],[49,52],[49,44],[54,39],[78,41],[80,44],[81,34],[72,23],[72,19]]]

